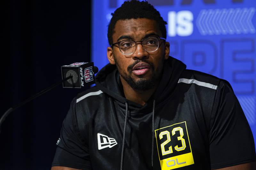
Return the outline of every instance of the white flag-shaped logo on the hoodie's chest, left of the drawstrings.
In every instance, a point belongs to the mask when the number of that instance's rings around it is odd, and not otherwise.
[[[101,133],[97,134],[98,137],[98,149],[112,148],[117,144],[116,139],[103,135]]]

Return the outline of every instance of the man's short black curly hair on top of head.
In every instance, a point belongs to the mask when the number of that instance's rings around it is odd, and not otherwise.
[[[108,43],[113,44],[113,34],[116,22],[118,20],[125,19],[137,19],[137,18],[148,18],[153,19],[158,24],[160,31],[162,32],[163,38],[166,38],[166,21],[161,17],[159,11],[157,11],[153,5],[149,4],[147,1],[125,1],[121,7],[117,8],[114,13],[111,13],[112,18],[108,25]]]

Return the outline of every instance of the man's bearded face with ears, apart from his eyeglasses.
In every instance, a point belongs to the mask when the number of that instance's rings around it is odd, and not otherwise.
[[[148,36],[160,36],[162,33],[155,20],[147,18],[118,20],[113,34],[113,43],[122,40],[140,41]],[[135,52],[124,55],[118,48],[108,48],[108,59],[116,64],[124,79],[135,90],[149,90],[159,82],[164,59],[169,57],[169,43],[159,40],[159,48],[155,52],[147,52],[141,43],[137,43]]]

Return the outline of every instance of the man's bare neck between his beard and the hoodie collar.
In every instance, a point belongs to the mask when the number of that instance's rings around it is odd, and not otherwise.
[[[134,101],[140,105],[145,105],[148,99],[156,91],[157,85],[154,88],[146,91],[134,90],[130,85],[128,85],[128,83],[121,76],[120,78],[124,88],[125,98],[128,100]]]

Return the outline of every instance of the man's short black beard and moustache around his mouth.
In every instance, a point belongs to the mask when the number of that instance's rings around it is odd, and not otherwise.
[[[145,59],[136,60],[136,62],[129,65],[128,68],[127,68],[127,71],[128,71],[129,74],[127,74],[125,72],[122,72],[122,70],[120,68],[120,65],[118,64],[116,59],[115,59],[115,62],[116,62],[116,66],[117,66],[117,69],[118,69],[120,75],[124,78],[124,80],[128,83],[128,85],[130,85],[134,90],[147,91],[147,90],[153,89],[157,85],[157,82],[159,82],[159,79],[160,79],[159,70],[155,70],[154,64],[149,63]],[[145,62],[145,63],[148,63],[150,65],[150,67],[152,69],[152,76],[148,80],[144,79],[142,77],[138,81],[135,82],[135,80],[131,77],[132,68],[140,62]]]

